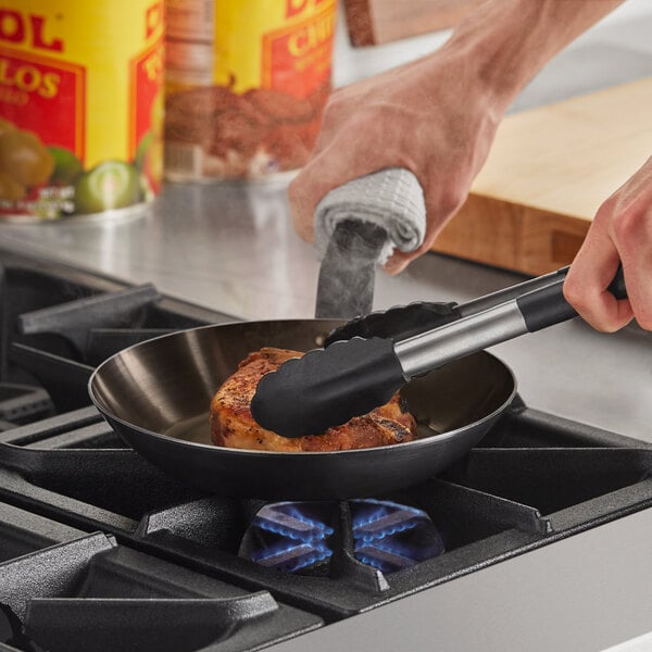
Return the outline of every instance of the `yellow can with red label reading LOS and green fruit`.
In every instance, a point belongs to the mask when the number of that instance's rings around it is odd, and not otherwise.
[[[163,174],[163,0],[0,0],[0,217],[124,214]]]

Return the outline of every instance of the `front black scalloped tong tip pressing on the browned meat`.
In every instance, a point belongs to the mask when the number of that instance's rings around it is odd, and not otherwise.
[[[405,384],[391,340],[353,338],[288,360],[265,374],[253,418],[284,437],[321,435],[387,403]],[[301,397],[301,400],[297,400]]]

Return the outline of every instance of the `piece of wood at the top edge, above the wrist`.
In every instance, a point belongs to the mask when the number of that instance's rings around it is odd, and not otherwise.
[[[353,46],[374,46],[457,25],[482,0],[344,0]]]

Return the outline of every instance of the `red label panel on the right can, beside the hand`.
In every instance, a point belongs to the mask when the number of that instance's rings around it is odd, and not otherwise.
[[[330,78],[335,11],[263,36],[263,86],[305,98]]]

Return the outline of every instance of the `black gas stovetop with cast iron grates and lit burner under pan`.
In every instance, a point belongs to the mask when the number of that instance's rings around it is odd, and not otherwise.
[[[463,460],[400,492],[202,494],[130,450],[86,385],[126,346],[234,317],[150,285],[0,261],[0,650],[300,642],[652,506],[652,444],[518,399]]]

